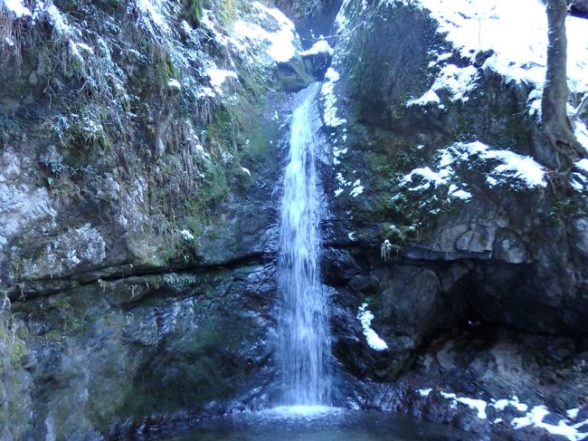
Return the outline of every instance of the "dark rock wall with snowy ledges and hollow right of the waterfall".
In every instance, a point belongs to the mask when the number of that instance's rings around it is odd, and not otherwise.
[[[457,18],[421,4],[344,2],[337,16],[323,88],[335,353],[365,379],[362,407],[503,433],[507,417],[472,422],[446,395],[516,395],[564,419],[588,387],[583,161],[564,176],[538,163],[541,85],[501,69],[498,49],[469,50]],[[349,325],[363,303],[387,350]]]

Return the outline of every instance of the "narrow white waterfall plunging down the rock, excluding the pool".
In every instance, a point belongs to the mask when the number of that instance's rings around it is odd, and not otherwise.
[[[281,202],[278,358],[288,405],[327,404],[330,395],[327,296],[320,281],[318,88],[299,92]]]

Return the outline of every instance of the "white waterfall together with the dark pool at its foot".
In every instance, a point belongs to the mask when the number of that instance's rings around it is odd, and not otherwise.
[[[450,441],[473,440],[449,427],[403,416],[330,407],[327,294],[320,280],[322,189],[317,170],[318,84],[297,95],[281,201],[278,407],[204,420],[166,441]],[[181,436],[181,437],[176,437]]]

